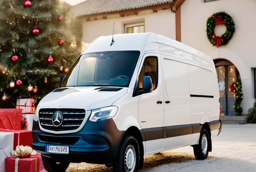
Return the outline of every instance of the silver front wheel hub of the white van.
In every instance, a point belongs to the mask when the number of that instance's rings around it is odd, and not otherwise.
[[[134,146],[129,145],[126,148],[125,155],[124,155],[124,166],[125,166],[126,172],[130,172],[134,170],[135,162],[136,162],[135,148]]]

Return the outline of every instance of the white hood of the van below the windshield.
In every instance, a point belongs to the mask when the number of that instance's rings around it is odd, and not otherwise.
[[[102,90],[102,88],[119,88]],[[116,91],[117,90],[117,91]],[[123,87],[66,87],[57,88],[47,94],[38,104],[42,108],[75,108],[93,110],[111,106],[118,98],[127,94],[128,88]]]

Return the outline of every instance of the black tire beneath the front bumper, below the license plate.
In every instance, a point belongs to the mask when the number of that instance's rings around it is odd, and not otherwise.
[[[70,164],[68,161],[58,161],[58,159],[50,158],[44,155],[42,155],[42,161],[44,168],[48,172],[65,172]]]

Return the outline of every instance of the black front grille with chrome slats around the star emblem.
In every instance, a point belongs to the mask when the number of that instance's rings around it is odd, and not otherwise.
[[[62,113],[62,124],[58,127],[52,124],[54,112]],[[80,127],[85,117],[84,109],[40,109],[39,122],[42,128],[52,131],[76,130]]]

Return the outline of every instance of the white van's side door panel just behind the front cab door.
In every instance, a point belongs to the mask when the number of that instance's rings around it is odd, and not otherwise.
[[[190,90],[185,60],[162,55],[166,149],[190,144],[192,134]]]

